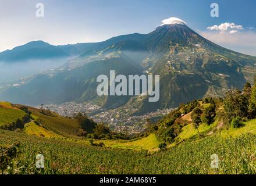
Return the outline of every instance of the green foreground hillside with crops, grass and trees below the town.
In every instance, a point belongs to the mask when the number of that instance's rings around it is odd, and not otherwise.
[[[255,88],[252,92],[254,98]],[[101,136],[98,131],[80,136],[79,117],[0,102],[0,116],[6,112],[12,116],[0,117],[0,128],[5,128],[0,129],[0,149],[19,151],[5,163],[0,161],[0,169],[5,174],[255,174],[256,120],[244,118],[239,127],[233,126],[233,120],[225,123],[226,107],[232,106],[229,96],[181,105],[130,139],[113,132]],[[215,111],[209,109],[214,105]],[[233,105],[235,114],[240,103]],[[204,112],[196,127],[195,110],[199,108]],[[22,123],[15,123],[11,130],[4,127],[26,115],[30,122],[23,127]],[[45,169],[35,167],[38,153],[44,156]],[[213,154],[218,155],[218,169],[211,168]],[[4,156],[0,153],[0,159]]]

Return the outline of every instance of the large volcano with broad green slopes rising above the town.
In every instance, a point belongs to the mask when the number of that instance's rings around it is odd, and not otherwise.
[[[79,47],[59,47],[69,54],[83,51],[69,60],[65,70],[5,88],[0,99],[23,104],[94,101],[141,114],[204,96],[222,96],[229,88],[242,88],[246,81],[253,83],[256,74],[255,57],[216,45],[180,22],[163,24],[149,34],[121,35]],[[97,96],[95,78],[109,74],[109,70],[160,75],[159,102],[148,102],[147,96]],[[129,109],[135,103],[136,108]]]

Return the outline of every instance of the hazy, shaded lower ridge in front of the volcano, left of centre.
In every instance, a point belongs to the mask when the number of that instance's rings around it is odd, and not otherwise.
[[[99,75],[109,76],[109,71],[116,74],[141,74],[140,69],[122,57],[87,63],[72,70],[63,71],[51,77],[49,74],[35,76],[27,84],[18,87],[11,86],[1,94],[2,100],[13,100],[19,103],[35,105],[38,103],[63,103],[73,100],[95,100],[104,106],[118,103],[122,105],[129,101],[127,96],[102,96],[96,93],[96,79]]]

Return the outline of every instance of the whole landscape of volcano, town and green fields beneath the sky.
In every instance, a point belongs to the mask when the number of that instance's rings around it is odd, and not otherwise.
[[[0,173],[256,174],[256,57],[170,20],[148,34],[1,52],[12,65],[63,61],[0,82]],[[138,80],[131,94],[115,94],[113,81],[97,94],[98,77],[111,75],[159,81]]]

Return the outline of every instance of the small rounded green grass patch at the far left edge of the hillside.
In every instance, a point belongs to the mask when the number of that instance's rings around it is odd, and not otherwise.
[[[0,126],[21,119],[24,115],[23,110],[13,108],[8,102],[0,102]]]

